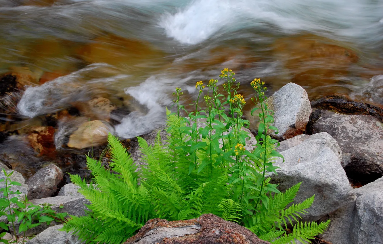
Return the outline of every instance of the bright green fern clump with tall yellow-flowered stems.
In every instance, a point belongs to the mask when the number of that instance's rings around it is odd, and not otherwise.
[[[167,140],[162,142],[158,133],[154,145],[148,145],[137,137],[142,154],[138,162],[110,134],[110,169],[88,157],[94,185],[70,176],[91,204],[87,216],[71,216],[63,229],[87,243],[121,243],[151,218],[183,220],[213,213],[273,244],[310,242],[322,233],[329,221],[300,222],[314,196],[288,207],[301,183],[280,192],[267,177],[267,172],[276,173],[273,163],[283,156],[275,150],[279,143],[267,135],[278,129],[271,126],[273,112],[259,79],[251,83],[257,105],[252,114],[259,110],[260,120],[257,144],[254,150],[246,149],[249,134],[242,129],[249,124],[242,119],[246,101],[237,93],[239,83],[233,76],[231,70],[221,72],[226,96],[219,93],[218,80],[209,81],[203,96],[206,109],[199,101],[205,86],[198,81],[198,98],[191,104],[195,109],[186,118],[180,116],[184,107],[179,104],[181,89],[176,88],[177,112],[167,110]],[[288,233],[290,225],[293,231]]]

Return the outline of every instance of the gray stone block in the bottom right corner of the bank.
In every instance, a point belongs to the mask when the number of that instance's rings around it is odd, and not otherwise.
[[[357,190],[351,243],[383,243],[383,178],[370,184]]]

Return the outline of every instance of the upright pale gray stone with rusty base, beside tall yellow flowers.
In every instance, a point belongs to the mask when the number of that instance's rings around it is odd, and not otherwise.
[[[282,141],[303,134],[311,114],[306,91],[295,83],[288,83],[267,99],[268,109],[274,111],[273,126],[279,133],[268,132]]]

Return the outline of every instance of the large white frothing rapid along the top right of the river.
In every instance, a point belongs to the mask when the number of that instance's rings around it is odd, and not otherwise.
[[[159,24],[167,36],[197,44],[221,29],[226,32],[265,23],[288,33],[376,36],[382,17],[382,0],[196,0],[165,14]]]

